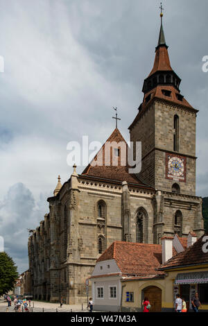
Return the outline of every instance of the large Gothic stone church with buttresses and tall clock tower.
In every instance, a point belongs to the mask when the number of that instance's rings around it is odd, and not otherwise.
[[[63,185],[58,177],[48,198],[49,214],[28,238],[34,299],[85,302],[85,280],[114,241],[159,244],[174,234],[204,234],[202,198],[196,196],[198,110],[180,93],[180,82],[169,60],[161,13],[153,69],[128,128],[130,141],[141,141],[141,171],[129,173],[118,149],[110,151],[107,166],[89,164],[78,175],[74,164]],[[126,144],[118,128],[107,139],[113,142]]]

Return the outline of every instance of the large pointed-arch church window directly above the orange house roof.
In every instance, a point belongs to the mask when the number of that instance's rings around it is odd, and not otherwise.
[[[139,208],[136,216],[136,242],[148,243],[148,216],[143,207]]]

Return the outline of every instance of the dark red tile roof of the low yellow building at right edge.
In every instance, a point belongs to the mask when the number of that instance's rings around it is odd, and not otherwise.
[[[208,234],[207,234],[208,235]],[[187,265],[197,265],[197,264],[208,264],[208,252],[202,251],[202,246],[205,242],[202,241],[205,234],[198,239],[193,246],[187,248],[178,255],[172,257],[164,265],[161,266],[162,269],[172,268],[175,266],[187,266]]]

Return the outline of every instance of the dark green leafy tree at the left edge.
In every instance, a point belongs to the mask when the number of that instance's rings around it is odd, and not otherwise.
[[[0,252],[0,296],[14,288],[17,277],[17,266],[12,258]]]

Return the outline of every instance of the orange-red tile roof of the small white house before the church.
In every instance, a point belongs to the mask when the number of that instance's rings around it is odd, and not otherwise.
[[[114,241],[97,259],[115,259],[123,275],[162,275],[157,268],[162,264],[162,246],[148,243]]]

